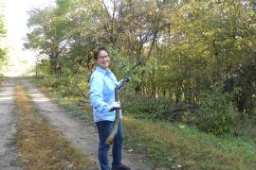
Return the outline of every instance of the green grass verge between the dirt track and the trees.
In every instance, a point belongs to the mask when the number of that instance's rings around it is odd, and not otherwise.
[[[91,108],[76,106],[77,100],[45,93],[92,122]],[[58,96],[58,97],[56,97]],[[85,118],[84,118],[85,117]],[[170,169],[256,169],[256,144],[248,138],[216,137],[196,127],[123,116],[125,147],[145,155],[155,167]]]

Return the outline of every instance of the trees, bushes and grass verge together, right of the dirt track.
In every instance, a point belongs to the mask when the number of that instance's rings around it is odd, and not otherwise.
[[[255,1],[104,2],[30,11],[24,45],[46,91],[92,122],[91,52],[105,45],[119,79],[142,63],[120,93],[127,148],[170,168],[255,169]]]

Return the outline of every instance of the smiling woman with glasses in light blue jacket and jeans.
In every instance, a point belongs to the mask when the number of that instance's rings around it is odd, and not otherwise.
[[[90,78],[90,102],[100,138],[98,158],[101,170],[109,170],[108,150],[110,145],[105,144],[105,142],[114,126],[116,116],[115,110],[109,110],[120,108],[119,102],[115,102],[115,88],[119,85],[119,82],[116,76],[108,69],[110,57],[106,48],[98,46],[93,52],[97,67]],[[121,121],[119,121],[118,134],[114,139],[112,148],[112,170],[130,170],[129,167],[121,164],[122,141],[122,127]]]

